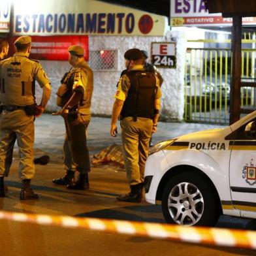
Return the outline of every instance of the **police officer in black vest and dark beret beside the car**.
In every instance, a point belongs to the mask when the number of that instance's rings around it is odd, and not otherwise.
[[[157,76],[144,69],[139,49],[127,50],[124,57],[127,72],[116,91],[110,134],[116,136],[116,122],[120,116],[123,157],[131,191],[117,199],[141,202],[148,142],[151,134],[157,131],[161,89]]]

